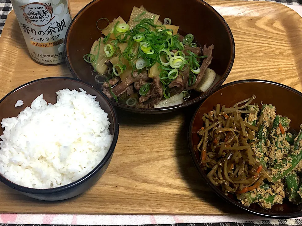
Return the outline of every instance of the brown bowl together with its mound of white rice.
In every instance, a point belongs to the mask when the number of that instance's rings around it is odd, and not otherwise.
[[[51,77],[0,100],[0,181],[26,196],[63,200],[106,171],[119,124],[108,98],[87,83]]]

